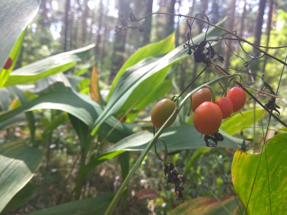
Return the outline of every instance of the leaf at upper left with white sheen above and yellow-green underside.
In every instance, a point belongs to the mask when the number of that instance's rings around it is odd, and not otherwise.
[[[73,51],[55,54],[16,69],[10,73],[5,86],[31,83],[44,77],[64,72],[73,67],[77,61],[88,56],[89,50],[93,47],[94,44],[91,44]]]

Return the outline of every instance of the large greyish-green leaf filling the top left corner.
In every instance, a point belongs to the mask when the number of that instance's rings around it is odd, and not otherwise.
[[[0,3],[0,70],[6,63],[11,50],[26,26],[35,17],[40,5],[39,0],[11,1],[1,0]],[[3,76],[0,74],[0,87]]]

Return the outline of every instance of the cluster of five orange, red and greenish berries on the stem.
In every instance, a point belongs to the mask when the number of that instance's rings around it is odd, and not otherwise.
[[[231,88],[226,97],[220,97],[215,101],[209,88],[203,88],[191,96],[191,110],[193,125],[201,134],[214,134],[220,128],[222,119],[226,119],[232,112],[239,111],[246,102],[246,93],[240,87]],[[151,118],[155,127],[160,128],[174,111],[176,104],[170,99],[162,99],[152,109]],[[172,122],[168,125],[170,126]]]

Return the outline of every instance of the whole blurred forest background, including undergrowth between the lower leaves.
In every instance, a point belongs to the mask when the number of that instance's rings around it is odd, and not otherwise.
[[[92,59],[84,61],[83,64],[77,64],[65,73],[72,74],[84,69],[82,76],[90,81],[91,66],[95,65],[98,69],[100,88],[108,89],[125,60],[142,46],[160,41],[174,31],[176,31],[175,46],[187,40],[186,18],[158,14],[133,24],[144,28],[144,32],[129,29],[126,37],[120,34],[115,35],[115,26],[120,24],[119,18],[128,19],[130,11],[137,19],[152,12],[180,13],[190,16],[195,16],[200,12],[210,16],[210,22],[213,24],[228,16],[229,18],[224,22],[224,28],[235,30],[239,36],[255,44],[274,47],[286,45],[286,9],[286,0],[41,0],[38,14],[28,25],[15,69],[47,56],[95,43],[96,46],[90,51]],[[199,15],[199,18],[203,16]],[[192,36],[205,32],[206,28],[206,24],[195,21]],[[235,54],[243,56],[245,61],[248,60],[248,56],[239,48],[238,42],[229,40],[227,43]],[[251,46],[242,44],[247,52],[257,54],[253,52]],[[242,67],[243,61],[232,55],[224,42],[216,45],[216,49],[223,54],[224,67],[235,69]],[[281,60],[285,59],[286,49],[269,49],[268,52]],[[89,68],[88,71],[86,71],[87,68]],[[201,69],[203,65],[195,64],[193,57],[187,57],[173,65],[168,75],[173,86],[171,95],[184,89]],[[282,64],[264,57],[258,60],[256,65],[253,64],[250,69],[259,76],[267,74],[265,81],[274,90],[276,89],[277,77],[280,76]],[[212,78],[213,74],[206,72],[204,77],[201,76],[193,84],[192,88]],[[282,77],[282,83],[280,94],[286,95],[286,74]],[[261,85],[258,85],[257,88],[260,87]],[[216,88],[220,90],[219,86]],[[286,97],[285,102],[287,102]],[[246,109],[248,107],[251,108],[252,103],[249,103]],[[152,105],[146,111],[149,112],[151,108]],[[276,126],[276,121],[272,122],[272,126]],[[25,128],[22,130],[16,127],[10,134],[7,132],[7,135],[10,140],[20,137],[27,143],[29,142],[27,128],[25,133]],[[247,131],[246,138],[252,138],[252,136],[252,130]],[[25,214],[75,199],[73,188],[77,180],[80,160],[80,147],[77,145],[77,140],[77,135],[69,123],[62,124],[53,131],[43,144],[45,157],[32,179],[32,183],[37,187],[35,188],[36,194],[33,194],[24,206],[9,214]],[[107,146],[100,146],[100,149],[103,150],[105,147],[107,148]],[[183,172],[184,164],[194,151],[174,151],[169,158],[177,169]],[[97,152],[92,151],[89,156],[94,156],[93,153]],[[131,153],[130,166],[133,165],[138,154],[137,152]],[[230,166],[233,152],[217,148],[215,154],[221,166],[224,167],[229,182],[232,183]],[[186,173],[187,181],[189,181],[185,184],[187,200],[200,196],[212,196],[212,193],[218,197],[231,193],[213,154],[197,158],[195,165],[190,168],[191,171]],[[180,204],[174,193],[170,192],[170,186],[166,185],[163,170],[159,175],[159,169],[162,170],[161,161],[156,158],[154,152],[149,153],[133,177],[129,189],[134,194],[140,189],[150,188],[155,191],[151,191],[154,197],[159,197],[157,193],[160,193],[163,199],[154,198],[150,201],[144,199],[145,201],[139,204],[139,201],[132,202],[131,198],[126,206],[126,214],[167,214]],[[88,173],[82,197],[93,197],[107,191],[117,191],[120,182],[121,170],[117,158],[113,158]]]

